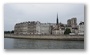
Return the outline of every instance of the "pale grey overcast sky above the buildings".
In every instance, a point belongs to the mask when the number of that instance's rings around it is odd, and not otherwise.
[[[79,23],[84,21],[84,4],[5,4],[4,29],[13,30],[16,23],[25,21],[56,23],[57,13],[61,23],[73,17]]]

